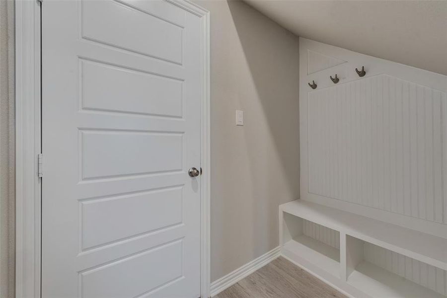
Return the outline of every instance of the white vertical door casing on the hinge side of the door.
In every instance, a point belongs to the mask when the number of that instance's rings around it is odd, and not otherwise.
[[[17,298],[40,297],[40,6],[15,1]]]

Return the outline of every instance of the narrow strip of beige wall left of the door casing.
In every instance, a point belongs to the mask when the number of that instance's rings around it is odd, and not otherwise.
[[[14,2],[0,0],[0,297],[15,297]]]

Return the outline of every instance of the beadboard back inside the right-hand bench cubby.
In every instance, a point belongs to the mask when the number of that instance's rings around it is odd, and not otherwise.
[[[447,271],[366,242],[364,258],[374,265],[447,296]]]

